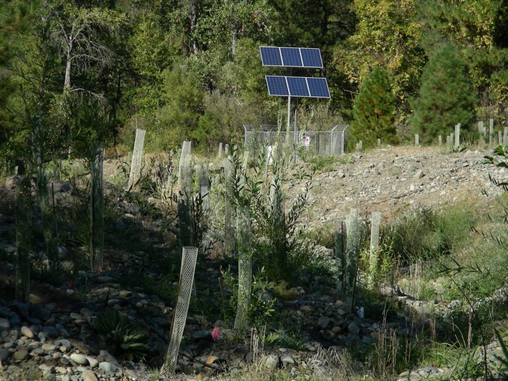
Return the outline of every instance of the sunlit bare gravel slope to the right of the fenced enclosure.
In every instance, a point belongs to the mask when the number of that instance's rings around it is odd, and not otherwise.
[[[333,223],[357,208],[360,215],[380,211],[391,219],[409,206],[440,206],[474,199],[485,203],[499,192],[489,180],[508,171],[483,164],[492,150],[447,152],[437,147],[389,147],[352,154],[352,163],[337,164],[313,176],[311,226]],[[290,186],[304,188],[304,180]],[[486,194],[489,195],[487,198]]]

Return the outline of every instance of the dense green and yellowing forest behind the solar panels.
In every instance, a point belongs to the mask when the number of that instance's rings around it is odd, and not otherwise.
[[[259,46],[320,48],[322,70],[261,65]],[[44,161],[91,139],[206,152],[276,124],[287,100],[265,75],[326,77],[301,99],[313,130],[351,123],[350,144],[473,132],[508,120],[503,0],[39,0],[0,3],[0,157],[44,142]],[[446,133],[445,133],[446,131]],[[37,136],[35,136],[37,135]],[[129,148],[127,148],[129,147]],[[214,149],[214,148],[213,148]]]

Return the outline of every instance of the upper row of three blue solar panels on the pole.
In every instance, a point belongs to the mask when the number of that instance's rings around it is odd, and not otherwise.
[[[260,46],[259,50],[263,66],[323,68],[323,60],[319,49]]]

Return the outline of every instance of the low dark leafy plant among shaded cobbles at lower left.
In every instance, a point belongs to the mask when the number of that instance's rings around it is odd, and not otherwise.
[[[106,314],[97,316],[91,327],[126,360],[140,360],[148,354],[150,336],[113,308],[106,308]]]

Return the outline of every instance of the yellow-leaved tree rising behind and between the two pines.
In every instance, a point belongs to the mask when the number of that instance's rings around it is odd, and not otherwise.
[[[362,83],[378,66],[386,68],[399,118],[409,111],[425,66],[425,51],[418,44],[422,26],[415,0],[354,0],[355,33],[340,47],[340,67],[353,83]]]

